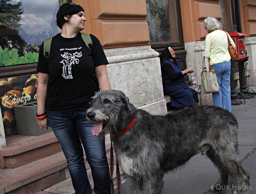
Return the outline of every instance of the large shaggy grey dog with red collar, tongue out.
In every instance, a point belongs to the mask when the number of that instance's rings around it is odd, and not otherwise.
[[[234,188],[237,194],[241,188],[242,194],[249,194],[250,174],[239,160],[238,123],[227,110],[199,106],[151,115],[136,109],[122,91],[108,90],[96,93],[87,118],[96,121],[94,135],[111,133],[117,161],[131,177],[133,194],[142,194],[144,185],[150,194],[161,194],[164,174],[200,152],[220,173],[212,191]]]

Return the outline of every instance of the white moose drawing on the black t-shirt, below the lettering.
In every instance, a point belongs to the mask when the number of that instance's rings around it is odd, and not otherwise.
[[[60,63],[63,63],[63,73],[62,73],[62,77],[64,77],[65,79],[73,79],[73,76],[71,74],[71,65],[78,64],[79,63],[79,59],[76,59],[75,57],[81,57],[82,56],[82,52],[75,52],[72,54],[64,52],[64,54],[61,54],[61,57],[65,58],[64,60],[62,60]],[[68,68],[68,75],[67,75],[67,68]]]

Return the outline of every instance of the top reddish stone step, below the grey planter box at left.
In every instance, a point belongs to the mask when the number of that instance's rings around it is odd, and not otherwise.
[[[41,136],[14,135],[0,149],[0,168],[16,168],[61,151],[53,132]]]

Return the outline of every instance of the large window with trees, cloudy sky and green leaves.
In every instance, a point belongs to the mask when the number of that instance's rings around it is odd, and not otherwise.
[[[0,67],[38,62],[41,43],[61,32],[58,8],[67,0],[1,0]]]

